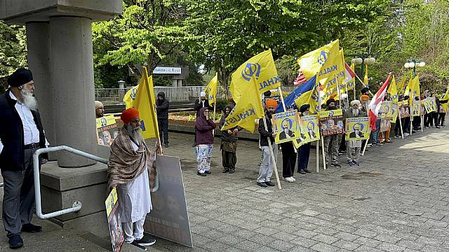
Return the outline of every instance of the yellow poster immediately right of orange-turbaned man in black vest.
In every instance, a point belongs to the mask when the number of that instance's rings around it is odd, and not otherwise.
[[[296,110],[275,113],[272,118],[272,123],[274,133],[276,133],[276,137],[274,138],[276,144],[293,140],[297,140],[298,144],[301,144],[306,138],[301,132]]]

